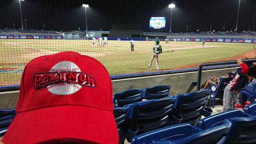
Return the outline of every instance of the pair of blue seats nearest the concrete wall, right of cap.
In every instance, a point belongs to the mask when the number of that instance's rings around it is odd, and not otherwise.
[[[118,106],[141,101],[142,99],[163,98],[169,96],[170,85],[156,85],[140,89],[128,89],[122,92],[116,92],[113,95],[113,101],[117,100]]]

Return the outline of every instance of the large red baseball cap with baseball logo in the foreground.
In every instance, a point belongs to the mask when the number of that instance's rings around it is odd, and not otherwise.
[[[118,143],[112,83],[96,59],[72,51],[34,58],[24,68],[8,143]]]

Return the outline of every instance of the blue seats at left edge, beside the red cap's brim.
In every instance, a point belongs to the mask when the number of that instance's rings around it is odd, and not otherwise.
[[[0,136],[2,136],[16,115],[16,108],[0,109]]]

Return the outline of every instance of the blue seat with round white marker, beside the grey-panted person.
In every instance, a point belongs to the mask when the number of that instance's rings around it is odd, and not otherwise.
[[[212,108],[214,108],[215,98],[223,98],[224,89],[232,78],[233,76],[220,78],[219,84],[209,83],[209,89],[210,89],[209,107],[211,105],[211,99],[212,99]]]

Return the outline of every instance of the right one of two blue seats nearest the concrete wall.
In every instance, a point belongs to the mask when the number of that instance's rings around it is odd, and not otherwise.
[[[169,96],[170,85],[156,85],[146,87],[143,92],[144,99],[163,98]]]

